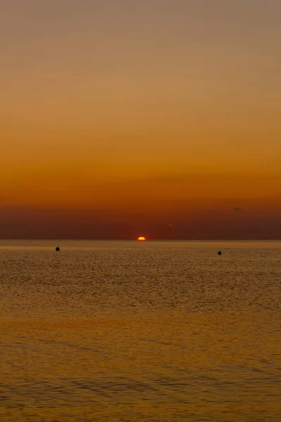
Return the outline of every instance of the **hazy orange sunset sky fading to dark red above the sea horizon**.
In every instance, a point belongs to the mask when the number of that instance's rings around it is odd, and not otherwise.
[[[280,0],[1,0],[0,238],[281,238]]]

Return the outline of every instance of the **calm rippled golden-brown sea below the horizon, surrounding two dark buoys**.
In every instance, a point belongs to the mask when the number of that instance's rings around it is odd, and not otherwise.
[[[0,241],[0,276],[0,421],[281,421],[281,242]]]

